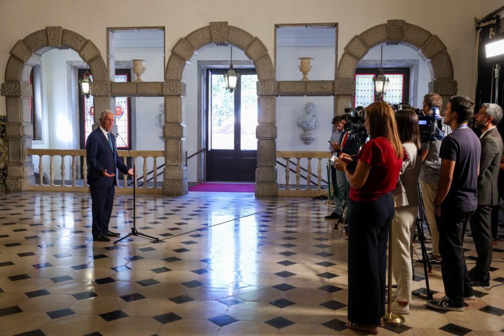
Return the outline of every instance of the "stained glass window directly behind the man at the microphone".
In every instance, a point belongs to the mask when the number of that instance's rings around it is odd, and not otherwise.
[[[93,76],[90,76],[93,78]],[[128,82],[129,81],[128,74],[115,75],[115,82]],[[94,106],[93,106],[93,96],[82,96],[84,99],[84,146],[86,139],[88,139],[89,134],[93,130],[94,124]],[[131,148],[131,137],[130,137],[130,98],[128,97],[115,97],[115,124],[117,125],[117,133],[118,135],[124,139],[124,143],[121,138],[117,137],[117,148],[125,149]],[[98,112],[99,113],[99,112]]]

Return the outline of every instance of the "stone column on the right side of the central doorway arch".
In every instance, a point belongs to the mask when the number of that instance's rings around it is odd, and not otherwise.
[[[278,195],[277,183],[277,126],[276,96],[278,83],[275,80],[260,80],[257,83],[258,125],[256,197],[275,197]]]

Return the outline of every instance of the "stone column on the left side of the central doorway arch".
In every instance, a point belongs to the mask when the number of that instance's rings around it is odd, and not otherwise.
[[[187,194],[187,167],[185,166],[184,97],[185,83],[167,80],[163,83],[164,96],[164,178],[163,194],[181,196]]]

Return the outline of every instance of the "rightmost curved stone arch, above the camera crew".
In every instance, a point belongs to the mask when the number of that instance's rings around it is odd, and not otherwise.
[[[428,90],[443,97],[448,102],[457,94],[457,82],[453,80],[453,65],[445,44],[427,30],[403,20],[389,20],[356,35],[345,46],[338,64],[336,83],[336,111],[343,111],[353,102],[355,94],[355,69],[357,63],[375,45],[387,43],[404,44],[414,49],[426,63],[430,71]]]

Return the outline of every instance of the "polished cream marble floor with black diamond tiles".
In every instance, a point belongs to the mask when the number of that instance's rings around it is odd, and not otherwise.
[[[2,335],[358,334],[345,329],[347,240],[324,220],[322,200],[139,195],[137,229],[161,240],[116,245],[92,241],[88,194],[0,200]],[[131,196],[116,195],[112,215],[112,230],[129,233]],[[465,247],[474,263],[470,236]],[[504,243],[495,247],[490,286],[504,283]],[[415,273],[421,291],[423,269]],[[442,296],[440,269],[428,279]],[[475,289],[464,312],[430,310],[413,296],[406,322],[380,334],[503,332],[504,286]]]

